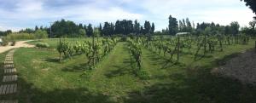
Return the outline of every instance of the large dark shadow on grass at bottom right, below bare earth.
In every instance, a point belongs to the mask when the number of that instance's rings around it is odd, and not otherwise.
[[[187,67],[184,72],[155,76],[153,79],[166,80],[131,91],[125,103],[253,103],[256,101],[256,86],[211,73],[213,66],[219,66],[219,62],[226,62],[238,54],[213,60],[212,66]],[[154,55],[148,57],[156,64],[164,63],[154,60],[157,58]]]

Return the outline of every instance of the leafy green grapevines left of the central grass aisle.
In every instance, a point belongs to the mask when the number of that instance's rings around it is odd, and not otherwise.
[[[87,64],[90,68],[94,68],[103,56],[107,55],[110,50],[116,45],[117,39],[106,38],[102,41],[95,42],[94,45],[88,41],[78,41],[72,43],[67,41],[66,38],[61,39],[61,43],[57,46],[57,51],[60,54],[64,54],[64,59],[71,58],[74,55],[85,54],[88,61]]]

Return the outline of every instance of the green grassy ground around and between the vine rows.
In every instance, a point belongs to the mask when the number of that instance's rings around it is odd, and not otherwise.
[[[72,40],[72,39],[71,39]],[[58,39],[46,39],[54,48]],[[36,42],[31,42],[37,43]],[[58,53],[42,49],[17,49],[19,102],[28,103],[247,103],[255,101],[256,87],[212,74],[226,60],[253,48],[231,45],[224,52],[194,60],[181,56],[175,65],[163,54],[143,49],[143,68],[150,74],[141,80],[132,71],[127,43],[119,42],[95,70],[86,70],[85,55],[58,62]],[[4,54],[0,54],[2,58]],[[0,60],[3,64],[3,60]],[[2,65],[3,67],[3,65]]]

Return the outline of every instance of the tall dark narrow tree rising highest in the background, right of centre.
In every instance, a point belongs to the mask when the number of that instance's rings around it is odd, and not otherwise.
[[[178,27],[177,27],[177,19],[173,18],[172,15],[169,16],[169,34],[176,35]]]

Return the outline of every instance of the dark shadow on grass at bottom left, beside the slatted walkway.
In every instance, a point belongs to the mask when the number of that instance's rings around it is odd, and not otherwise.
[[[86,87],[78,89],[52,89],[36,88],[32,83],[19,80],[19,93],[16,98],[19,103],[116,103],[110,96],[92,93]]]

